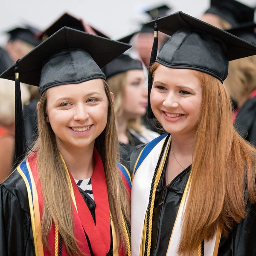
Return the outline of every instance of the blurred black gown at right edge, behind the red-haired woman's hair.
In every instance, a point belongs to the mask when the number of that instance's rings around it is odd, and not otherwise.
[[[256,96],[244,103],[234,125],[241,137],[256,147]]]

